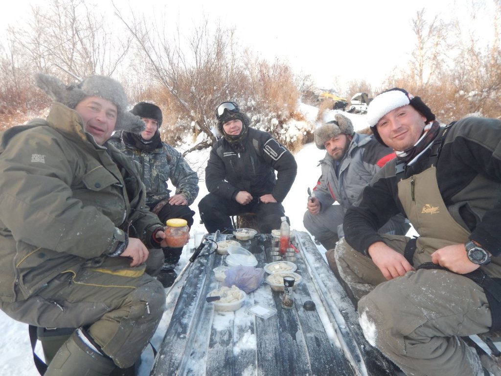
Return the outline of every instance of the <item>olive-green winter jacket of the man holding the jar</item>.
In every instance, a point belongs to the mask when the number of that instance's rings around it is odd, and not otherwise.
[[[161,224],[145,208],[137,166],[96,144],[81,121],[54,103],[47,121],[2,133],[1,300],[26,299],[63,271],[78,271],[113,250],[124,231],[159,247],[151,239]]]

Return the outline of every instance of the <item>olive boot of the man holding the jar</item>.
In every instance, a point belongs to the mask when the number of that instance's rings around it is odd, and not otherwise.
[[[56,353],[45,376],[108,376],[115,368],[109,357],[84,342],[77,329]],[[88,341],[88,338],[86,338]]]

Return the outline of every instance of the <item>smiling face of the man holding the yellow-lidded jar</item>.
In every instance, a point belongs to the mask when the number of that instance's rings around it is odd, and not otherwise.
[[[117,123],[117,106],[101,97],[87,97],[75,107],[84,121],[84,130],[92,134],[98,145],[108,141]]]

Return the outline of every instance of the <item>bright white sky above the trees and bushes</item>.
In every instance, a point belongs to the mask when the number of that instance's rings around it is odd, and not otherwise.
[[[474,0],[489,14],[492,0]],[[85,0],[95,4],[92,0]],[[48,0],[15,0],[4,6],[1,25],[23,22],[29,4],[47,4]],[[334,87],[354,79],[366,79],[373,87],[395,67],[406,65],[415,45],[411,20],[416,12],[425,9],[428,19],[439,15],[464,18],[464,27],[489,28],[490,23],[474,23],[466,11],[473,0],[345,0],[291,2],[284,0],[242,1],[183,1],[183,0],[117,0],[124,13],[128,8],[153,20],[166,15],[165,24],[180,25],[186,35],[202,18],[235,27],[238,41],[251,47],[260,56],[289,62],[297,71],[311,75],[323,88]],[[101,0],[99,7],[108,6],[110,21],[111,0]],[[489,37],[492,32],[486,31]]]

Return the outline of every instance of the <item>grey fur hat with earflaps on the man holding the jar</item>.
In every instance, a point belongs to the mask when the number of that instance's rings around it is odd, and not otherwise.
[[[118,82],[107,76],[89,76],[80,83],[65,85],[54,76],[44,73],[35,75],[37,86],[56,102],[75,109],[77,104],[87,97],[107,99],[117,106],[117,123],[115,130],[141,133],[145,128],[144,121],[139,116],[127,111],[127,97],[124,88]]]

